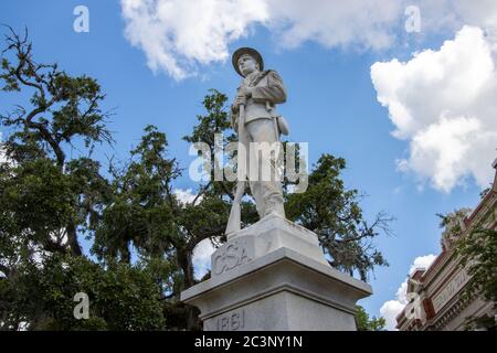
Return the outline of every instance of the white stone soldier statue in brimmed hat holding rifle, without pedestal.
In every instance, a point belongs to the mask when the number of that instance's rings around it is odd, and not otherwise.
[[[276,104],[286,100],[283,81],[275,71],[264,71],[263,58],[254,49],[239,49],[233,53],[232,62],[235,71],[243,78],[231,106],[231,122],[233,129],[237,131],[239,142],[245,147],[246,175],[248,176],[252,195],[255,199],[257,213],[261,218],[271,213],[285,217],[282,184],[277,176],[281,173],[276,163],[277,158],[273,154],[269,161],[264,161],[258,153],[257,156],[251,156],[251,143],[254,146],[254,142],[279,142],[279,135],[288,133],[286,121],[275,109]],[[277,152],[273,151],[273,153]],[[272,176],[269,180],[261,174],[264,163],[268,163]],[[254,173],[254,169],[257,170],[256,173]],[[226,226],[228,235],[240,231],[240,202],[245,185],[246,180],[239,180],[235,200]]]

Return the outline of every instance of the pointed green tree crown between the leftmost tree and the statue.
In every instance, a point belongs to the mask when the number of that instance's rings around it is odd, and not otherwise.
[[[156,127],[145,129],[131,162],[113,169],[110,197],[96,227],[93,250],[101,256],[119,257],[129,263],[134,245],[150,255],[169,249],[167,238],[175,236],[175,210],[179,208],[171,182],[180,175],[173,159],[166,156],[166,136]]]

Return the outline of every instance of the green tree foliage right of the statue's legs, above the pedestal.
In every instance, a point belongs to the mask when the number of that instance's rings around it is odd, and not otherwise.
[[[330,265],[350,275],[357,270],[361,279],[374,266],[388,263],[371,244],[379,231],[390,233],[392,221],[379,213],[372,224],[362,216],[357,190],[347,190],[340,178],[346,168],[342,158],[322,154],[309,173],[309,185],[305,193],[287,194],[286,215],[315,232]]]

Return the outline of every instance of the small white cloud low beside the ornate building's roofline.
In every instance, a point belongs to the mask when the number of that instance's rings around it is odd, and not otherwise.
[[[414,259],[412,265],[410,266],[409,272],[412,275],[416,268],[425,268],[427,269],[433,260],[436,258],[435,255],[429,254],[425,256],[419,256]],[[387,324],[387,330],[395,330],[396,325],[396,315],[404,309],[408,303],[406,300],[408,293],[408,279],[405,279],[395,292],[395,299],[388,300],[381,306],[380,314],[384,318]]]

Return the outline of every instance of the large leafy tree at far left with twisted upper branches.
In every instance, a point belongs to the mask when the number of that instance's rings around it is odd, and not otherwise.
[[[36,63],[27,33],[11,30],[6,42],[1,89],[31,98],[0,116],[11,131],[0,145],[0,330],[161,329],[161,292],[149,269],[93,263],[78,242],[113,196],[91,158],[96,143],[112,142],[98,83]],[[89,296],[89,321],[72,315],[80,291]]]

